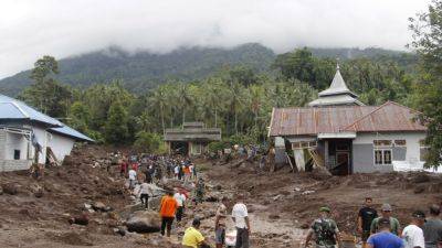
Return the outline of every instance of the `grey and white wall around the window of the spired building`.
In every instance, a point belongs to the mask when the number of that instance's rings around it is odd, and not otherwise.
[[[389,172],[393,165],[375,165],[373,140],[406,140],[407,147],[392,147],[392,162],[401,161],[410,166],[420,159],[419,141],[425,138],[424,132],[358,133],[352,141],[354,172]]]

